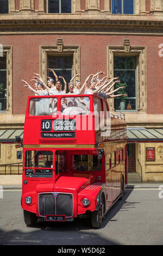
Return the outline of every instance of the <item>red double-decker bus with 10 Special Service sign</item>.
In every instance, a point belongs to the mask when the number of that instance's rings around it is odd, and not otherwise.
[[[24,222],[89,217],[101,227],[127,184],[126,121],[95,95],[30,96],[23,136]]]

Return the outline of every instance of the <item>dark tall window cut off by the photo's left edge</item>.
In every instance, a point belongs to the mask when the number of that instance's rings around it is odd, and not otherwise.
[[[7,56],[0,57],[0,111],[7,108]]]

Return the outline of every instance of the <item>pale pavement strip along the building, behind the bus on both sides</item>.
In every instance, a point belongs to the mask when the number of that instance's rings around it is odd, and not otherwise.
[[[3,190],[22,190],[22,185],[2,185]],[[160,189],[163,189],[163,182],[161,183],[129,183],[127,184],[126,188],[127,189],[134,189],[134,188],[159,188],[161,186]],[[1,190],[1,187],[0,187]]]

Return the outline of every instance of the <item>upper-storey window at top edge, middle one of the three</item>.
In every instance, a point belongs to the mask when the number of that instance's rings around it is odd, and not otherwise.
[[[48,13],[71,13],[72,0],[48,0]]]

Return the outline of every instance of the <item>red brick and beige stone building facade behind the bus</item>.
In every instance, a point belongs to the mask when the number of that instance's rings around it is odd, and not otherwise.
[[[8,5],[0,14],[0,84],[6,74],[5,92],[0,92],[0,164],[17,161],[16,151],[15,156],[6,154],[15,149],[5,132],[23,130],[31,93],[21,80],[32,84],[36,72],[46,81],[47,68],[60,68],[49,64],[71,56],[67,70],[71,76],[80,74],[82,82],[97,70],[110,77],[130,74],[134,93],[123,111],[120,102],[110,99],[110,111],[126,115],[129,170],[139,173],[142,181],[163,181],[162,1],[67,0],[65,6],[62,1],[54,8],[52,0],[2,0]],[[129,67],[125,63],[130,60],[134,64]],[[122,65],[116,66],[116,61]],[[139,136],[135,130],[140,127],[147,133]],[[146,148],[155,149],[154,161],[146,159]]]

